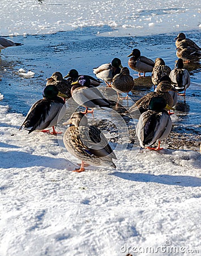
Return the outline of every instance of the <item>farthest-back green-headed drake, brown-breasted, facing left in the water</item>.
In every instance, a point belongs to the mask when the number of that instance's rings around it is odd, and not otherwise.
[[[148,59],[147,57],[141,56],[141,52],[139,49],[133,49],[132,52],[127,57],[130,56],[132,57],[129,59],[129,67],[139,72],[139,77],[141,76],[140,73],[142,72],[144,73],[143,76],[145,77],[145,74],[147,72],[153,71],[153,67],[155,65],[154,61]]]

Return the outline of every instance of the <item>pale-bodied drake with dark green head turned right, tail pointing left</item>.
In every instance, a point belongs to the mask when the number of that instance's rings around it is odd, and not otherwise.
[[[121,60],[114,58],[111,63],[102,64],[97,68],[93,68],[98,79],[103,80],[106,85],[111,86],[113,77],[121,72],[122,64]]]

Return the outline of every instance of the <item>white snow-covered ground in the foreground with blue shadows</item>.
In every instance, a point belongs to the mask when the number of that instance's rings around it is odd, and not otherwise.
[[[79,174],[57,137],[18,131],[24,117],[7,111],[1,106],[1,256],[200,255],[198,152],[134,147],[116,151],[117,170]]]

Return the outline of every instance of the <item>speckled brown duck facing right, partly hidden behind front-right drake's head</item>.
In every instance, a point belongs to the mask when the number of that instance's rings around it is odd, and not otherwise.
[[[139,118],[140,114],[148,110],[149,101],[152,97],[162,97],[166,101],[166,109],[172,109],[174,101],[169,91],[177,92],[176,89],[170,84],[169,81],[161,81],[155,89],[155,92],[150,92],[135,102],[129,109],[129,113],[136,118]]]

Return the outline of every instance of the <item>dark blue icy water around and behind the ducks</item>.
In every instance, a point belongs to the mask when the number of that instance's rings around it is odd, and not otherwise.
[[[27,114],[30,106],[42,97],[42,90],[46,78],[53,72],[60,71],[63,76],[72,68],[79,73],[93,76],[92,68],[102,63],[109,63],[114,57],[122,60],[127,66],[129,58],[126,56],[132,48],[140,49],[142,55],[155,60],[162,57],[166,65],[174,68],[177,60],[175,34],[161,34],[155,36],[136,37],[104,37],[98,36],[97,31],[104,32],[110,28],[83,28],[69,32],[58,32],[52,35],[18,36],[13,40],[23,43],[21,47],[11,47],[2,50],[0,63],[0,92],[4,100],[0,104],[10,106],[10,112]],[[185,31],[182,31],[185,32]],[[200,32],[185,33],[187,37],[200,45]],[[18,69],[35,72],[31,79],[23,79],[18,75]],[[198,135],[200,126],[201,75],[200,64],[186,66],[191,75],[191,85],[186,91],[185,100],[178,98],[176,118],[173,118],[173,130],[177,133],[191,133]],[[130,70],[131,71],[131,70]],[[138,100],[144,94],[151,92],[151,73],[144,78],[138,78],[135,71],[131,71],[135,78],[135,88],[131,98]],[[127,104],[127,102],[123,102]]]

